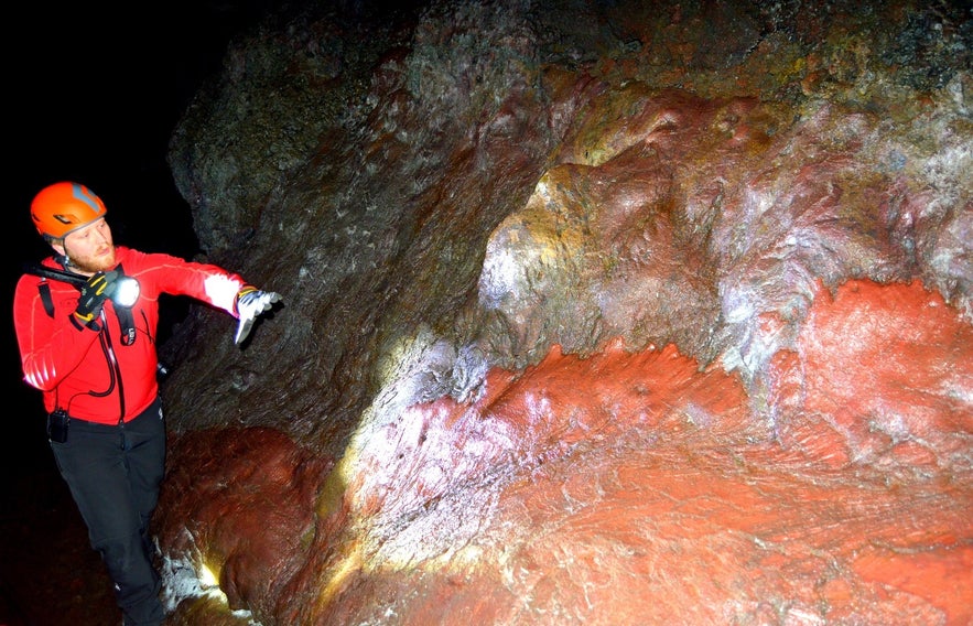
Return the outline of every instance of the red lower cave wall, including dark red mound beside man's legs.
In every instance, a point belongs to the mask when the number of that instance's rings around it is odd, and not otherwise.
[[[970,325],[918,283],[811,312],[786,424],[672,346],[554,350],[359,433],[313,530],[323,467],[260,433],[172,477],[205,506],[166,516],[284,623],[969,624]]]

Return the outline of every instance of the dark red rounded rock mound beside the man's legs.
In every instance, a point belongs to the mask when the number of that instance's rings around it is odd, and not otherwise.
[[[316,489],[333,463],[309,457],[270,429],[197,433],[174,442],[171,454],[197,462],[176,464],[166,476],[167,505],[158,522],[167,532],[160,540],[193,562],[166,561],[163,571],[179,581],[186,569],[205,565],[209,584],[218,581],[231,606],[246,597],[272,612],[300,563],[293,558],[314,535]],[[184,611],[192,617],[194,607]],[[204,612],[203,619],[215,618]]]

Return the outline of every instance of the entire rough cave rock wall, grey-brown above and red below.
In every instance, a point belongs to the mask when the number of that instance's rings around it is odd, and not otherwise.
[[[171,163],[285,305],[164,346],[173,620],[973,619],[970,11],[704,4],[231,46]]]

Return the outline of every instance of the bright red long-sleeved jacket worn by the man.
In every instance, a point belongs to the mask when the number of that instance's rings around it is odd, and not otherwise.
[[[237,316],[237,293],[247,284],[239,276],[169,255],[122,246],[116,250],[118,266],[113,269],[137,279],[141,289],[132,306],[136,339],[131,345],[121,341],[111,301],[105,302],[100,331],[78,328],[72,323],[79,294],[76,287],[33,274],[24,274],[17,283],[13,324],[24,380],[43,391],[48,412],[61,408],[73,418],[117,424],[148,408],[159,391],[155,328],[160,294],[190,295]],[[61,269],[53,259],[43,265]],[[53,315],[48,315],[39,289],[43,282],[51,288]]]

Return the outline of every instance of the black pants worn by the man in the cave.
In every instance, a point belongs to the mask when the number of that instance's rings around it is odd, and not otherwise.
[[[161,582],[148,533],[165,467],[161,400],[125,424],[72,419],[67,441],[51,442],[51,450],[115,582],[125,624],[161,624]]]

